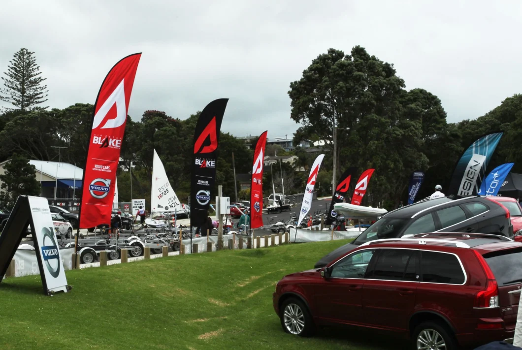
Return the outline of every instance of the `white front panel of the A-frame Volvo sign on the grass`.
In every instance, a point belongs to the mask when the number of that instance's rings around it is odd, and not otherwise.
[[[40,256],[43,268],[42,282],[48,291],[63,291],[67,293],[67,279],[62,266],[60,249],[56,244],[53,219],[49,210],[49,203],[43,197],[28,196],[31,207],[34,248]]]

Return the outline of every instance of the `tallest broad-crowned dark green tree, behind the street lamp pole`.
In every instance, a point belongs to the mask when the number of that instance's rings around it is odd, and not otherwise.
[[[360,46],[350,55],[334,49],[319,55],[288,93],[291,118],[302,124],[296,137],[316,135],[333,150],[335,117],[336,178],[348,166],[375,168],[369,194],[378,201],[398,203],[411,172],[427,170],[429,155],[438,157],[434,147],[448,139],[440,100],[422,89],[407,91],[393,64]],[[324,163],[331,168],[332,157]]]

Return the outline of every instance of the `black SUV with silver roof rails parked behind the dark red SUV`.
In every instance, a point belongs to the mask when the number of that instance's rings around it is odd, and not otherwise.
[[[513,225],[505,207],[484,197],[423,200],[386,213],[352,243],[330,252],[314,267],[325,267],[346,252],[374,239],[432,232],[491,233],[513,238]]]

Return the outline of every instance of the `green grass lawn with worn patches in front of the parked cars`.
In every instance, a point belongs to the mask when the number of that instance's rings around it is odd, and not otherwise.
[[[281,329],[275,284],[346,241],[187,255],[67,271],[70,293],[40,276],[0,284],[0,349],[402,349],[374,331]]]

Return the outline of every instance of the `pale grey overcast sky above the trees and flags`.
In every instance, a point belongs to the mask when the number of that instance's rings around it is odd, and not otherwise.
[[[94,103],[122,57],[143,52],[129,115],[187,118],[229,98],[221,130],[291,135],[289,84],[330,47],[361,45],[408,89],[437,95],[448,121],[522,92],[522,2],[2,0],[0,71],[34,51],[51,107]],[[4,104],[4,106],[7,106]]]

